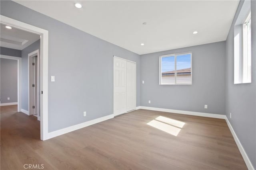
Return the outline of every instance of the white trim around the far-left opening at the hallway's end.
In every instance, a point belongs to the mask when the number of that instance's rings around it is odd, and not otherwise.
[[[9,56],[9,55],[0,55],[1,59],[10,59],[10,60],[16,60],[17,61],[17,78],[18,78],[18,84],[17,84],[17,88],[18,88],[18,98],[17,98],[17,103],[18,103],[18,112],[21,111],[21,68],[22,68],[22,58],[21,57],[14,57],[14,56]],[[1,106],[5,106],[3,104],[1,104]]]

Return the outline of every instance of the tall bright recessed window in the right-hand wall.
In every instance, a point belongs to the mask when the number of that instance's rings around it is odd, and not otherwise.
[[[234,25],[234,84],[251,82],[251,12],[245,1]]]

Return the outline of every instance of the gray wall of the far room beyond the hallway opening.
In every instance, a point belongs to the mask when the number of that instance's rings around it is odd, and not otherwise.
[[[1,103],[18,102],[17,60],[0,59]],[[10,100],[7,100],[7,98]]]

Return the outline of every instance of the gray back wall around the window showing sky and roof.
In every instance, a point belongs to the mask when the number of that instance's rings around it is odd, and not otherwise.
[[[183,52],[192,52],[192,85],[159,85],[159,57]],[[141,106],[225,114],[225,41],[141,55],[140,63]]]

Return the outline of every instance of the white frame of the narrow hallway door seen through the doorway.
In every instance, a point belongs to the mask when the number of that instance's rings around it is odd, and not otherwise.
[[[37,62],[37,89],[36,89],[36,91],[38,92],[38,95],[37,95],[37,99],[36,99],[36,102],[37,102],[37,104],[38,104],[38,106],[39,106],[39,78],[40,78],[40,71],[39,71],[39,61],[40,61],[40,54],[39,54],[39,49],[37,49],[36,51],[33,51],[33,52],[31,52],[31,53],[29,53],[28,54],[28,113],[30,114],[30,115],[32,115],[31,114],[31,105],[32,105],[32,100],[31,100],[31,98],[30,98],[30,92],[31,92],[31,90],[32,90],[32,86],[31,86],[31,74],[30,74],[30,72],[31,72],[31,63],[30,63],[30,61],[31,61],[31,59],[32,59],[32,57],[34,57],[34,56],[36,56],[37,55],[37,57],[38,57],[38,62]],[[38,64],[39,63],[39,64]],[[39,116],[39,107],[37,107],[37,113],[38,113],[38,115],[37,115],[37,119],[40,121],[40,116]]]

